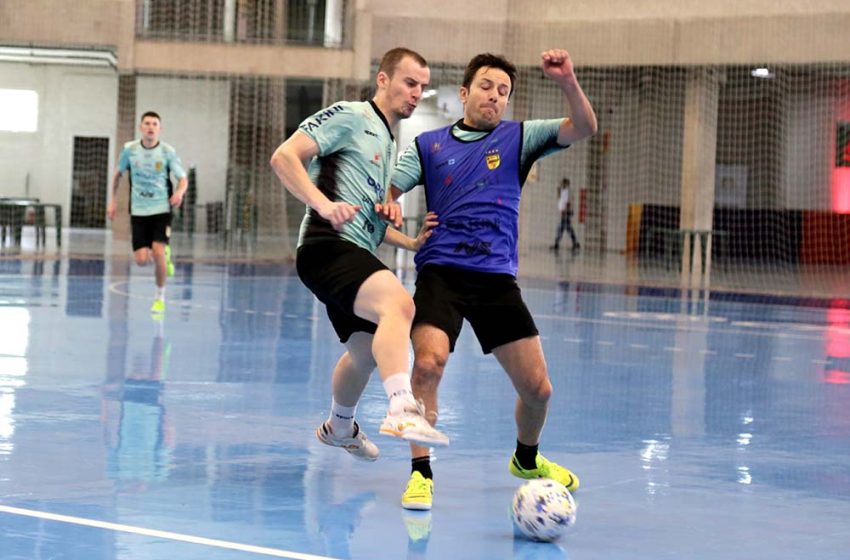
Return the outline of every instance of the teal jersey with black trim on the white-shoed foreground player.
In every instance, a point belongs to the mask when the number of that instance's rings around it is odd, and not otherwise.
[[[307,170],[313,183],[329,200],[361,207],[354,221],[336,231],[308,206],[298,246],[344,239],[374,253],[387,231],[375,204],[385,199],[398,153],[384,115],[371,101],[340,101],[305,119],[298,129],[319,147]]]

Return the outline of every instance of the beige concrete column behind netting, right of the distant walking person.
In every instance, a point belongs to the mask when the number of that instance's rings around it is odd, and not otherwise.
[[[711,236],[688,232],[710,231],[713,227],[717,105],[721,80],[722,74],[718,70],[694,68],[685,85],[679,215],[679,228],[683,230],[683,287],[699,285],[703,277],[707,285],[710,278]]]

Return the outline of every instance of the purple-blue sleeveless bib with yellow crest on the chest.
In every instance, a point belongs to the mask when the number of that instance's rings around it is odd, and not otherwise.
[[[428,210],[440,222],[416,253],[426,264],[456,266],[516,276],[519,199],[524,175],[520,163],[522,123],[502,121],[475,141],[458,140],[452,126],[420,134]]]

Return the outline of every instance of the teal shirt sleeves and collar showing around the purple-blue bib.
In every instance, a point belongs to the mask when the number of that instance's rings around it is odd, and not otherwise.
[[[556,143],[558,130],[564,119],[545,119],[523,121],[522,123],[522,152],[520,154],[520,167],[528,168],[538,159],[559,152],[567,146],[559,146]],[[452,136],[462,142],[474,142],[487,136],[489,131],[466,130],[458,125],[452,127]],[[402,192],[408,192],[416,185],[421,185],[424,175],[422,173],[422,162],[416,142],[411,142],[402,154],[401,159],[395,167],[392,185]]]

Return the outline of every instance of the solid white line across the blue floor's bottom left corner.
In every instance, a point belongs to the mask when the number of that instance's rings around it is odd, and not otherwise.
[[[121,531],[123,533],[134,533],[136,535],[144,535],[146,537],[156,537],[160,539],[169,539],[172,541],[181,541],[190,544],[203,544],[207,546],[215,546],[218,548],[227,548],[230,550],[240,550],[242,552],[253,552],[254,554],[263,554],[265,556],[275,556],[277,558],[290,558],[292,560],[334,560],[328,556],[315,556],[313,554],[302,554],[300,552],[289,552],[276,548],[266,548],[264,546],[254,546],[250,544],[240,544],[230,541],[222,541],[218,539],[208,539],[205,537],[195,537],[193,535],[184,535],[181,533],[172,533],[170,531],[158,531],[156,529],[145,529],[144,527],[134,527],[132,525],[122,525],[120,523],[109,523],[107,521],[97,521],[95,519],[85,519],[83,517],[74,517],[71,515],[59,515],[56,513],[48,513],[46,511],[36,511],[31,509],[22,509],[9,506],[0,506],[0,513],[9,513],[12,515],[23,515],[26,517],[35,517],[37,519],[46,519],[48,521],[59,521],[60,523],[71,523],[73,525],[84,525],[86,527],[94,527],[96,529],[109,529],[111,531]]]

